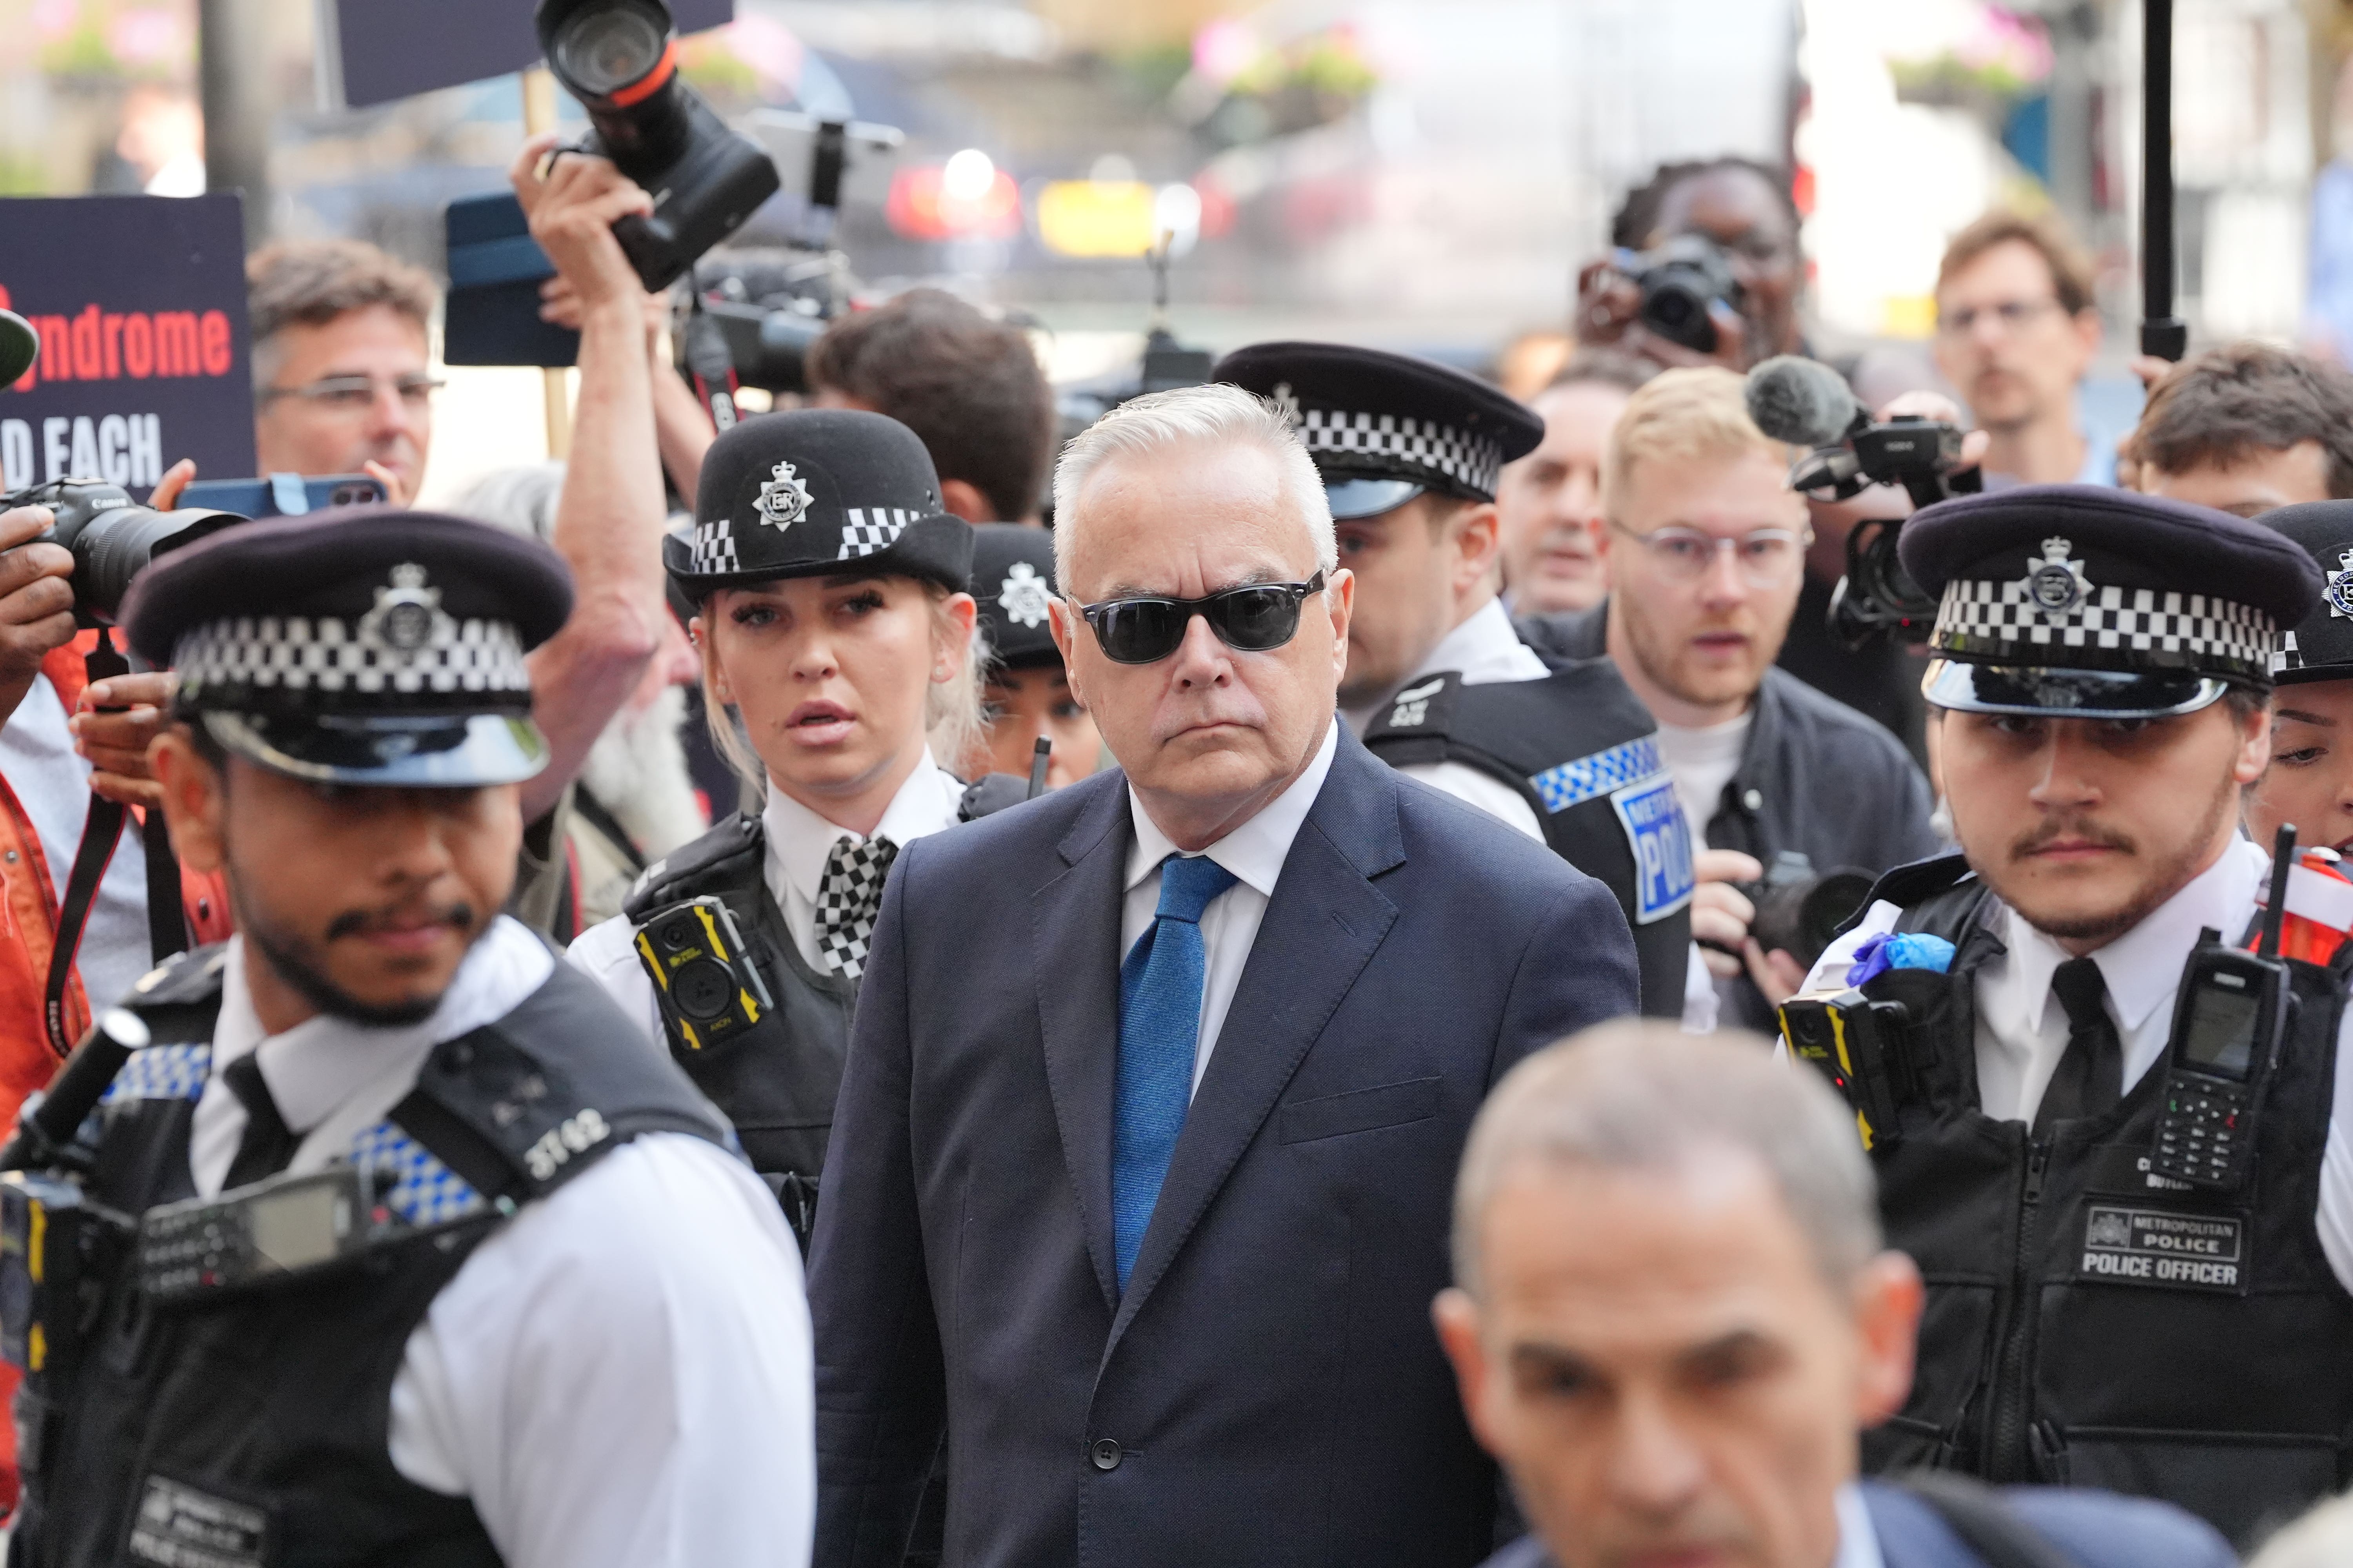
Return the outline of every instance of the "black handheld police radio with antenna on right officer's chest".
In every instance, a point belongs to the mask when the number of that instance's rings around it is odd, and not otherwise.
[[[2207,926],[2181,971],[2174,1032],[2165,1041],[2165,1091],[2148,1168],[2193,1187],[2231,1190],[2247,1180],[2254,1119],[2287,1037],[2289,976],[2280,959],[2287,875],[2297,830],[2280,827],[2271,851],[2271,905],[2254,952],[2226,947]]]

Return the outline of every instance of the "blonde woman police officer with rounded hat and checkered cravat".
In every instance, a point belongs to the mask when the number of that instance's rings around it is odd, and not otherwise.
[[[767,804],[647,867],[569,957],[668,1041],[807,1241],[892,860],[1024,792],[967,790],[932,750],[981,733],[972,524],[913,430],[802,409],[711,447],[664,562],[696,607],[713,733]]]

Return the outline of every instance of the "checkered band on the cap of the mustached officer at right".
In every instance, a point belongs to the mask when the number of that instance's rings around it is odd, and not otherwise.
[[[2275,635],[2252,604],[2202,592],[2092,588],[2073,609],[2047,611],[2024,581],[1955,578],[1929,646],[1988,665],[2266,677]]]

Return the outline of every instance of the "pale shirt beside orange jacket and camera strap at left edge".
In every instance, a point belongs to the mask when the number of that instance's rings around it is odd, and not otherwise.
[[[82,846],[82,823],[89,820],[89,764],[73,750],[66,701],[47,675],[33,677],[16,712],[0,724],[0,778],[7,778],[16,804],[33,820],[40,853],[49,863],[49,889],[64,900],[73,853]],[[31,877],[33,867],[12,865],[0,875]],[[89,924],[82,926],[82,950],[73,966],[82,976],[92,1013],[120,1001],[129,994],[132,980],[153,969],[146,856],[139,851],[136,823],[122,825],[115,858],[99,877],[99,896],[89,903]]]

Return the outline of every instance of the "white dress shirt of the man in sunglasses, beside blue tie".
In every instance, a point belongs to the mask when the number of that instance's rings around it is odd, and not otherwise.
[[[1266,802],[1254,818],[1228,832],[1224,839],[1200,851],[1235,875],[1235,884],[1209,900],[1200,912],[1200,940],[1207,969],[1200,985],[1200,1034],[1193,1046],[1193,1088],[1200,1091],[1200,1074],[1209,1067],[1209,1051],[1226,1027],[1226,1009],[1233,1006],[1233,987],[1242,983],[1242,966],[1249,947],[1259,940],[1259,922],[1266,919],[1266,900],[1275,896],[1275,879],[1282,860],[1292,853],[1299,825],[1308,820],[1308,809],[1322,792],[1322,780],[1332,771],[1332,755],[1339,750],[1339,724],[1325,726],[1325,741],[1315,759],[1275,799]],[[1127,788],[1127,813],[1136,825],[1136,842],[1127,851],[1127,903],[1120,910],[1120,957],[1153,929],[1160,910],[1160,863],[1184,853],[1160,832],[1160,825]]]

